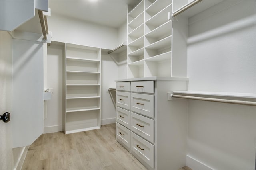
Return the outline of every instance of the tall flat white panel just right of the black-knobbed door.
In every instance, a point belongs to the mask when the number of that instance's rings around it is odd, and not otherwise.
[[[43,43],[12,40],[13,147],[31,145],[44,126]]]

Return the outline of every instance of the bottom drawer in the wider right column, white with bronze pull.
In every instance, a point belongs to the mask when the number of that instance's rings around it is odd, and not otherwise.
[[[131,150],[154,168],[154,145],[131,132]]]

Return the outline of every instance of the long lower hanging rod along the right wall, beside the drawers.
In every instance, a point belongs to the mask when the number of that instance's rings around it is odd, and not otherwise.
[[[210,102],[221,102],[221,103],[230,103],[230,104],[242,104],[242,105],[250,105],[256,106],[256,102],[244,101],[244,100],[229,100],[229,99],[218,99],[218,98],[204,98],[204,97],[196,97],[196,96],[183,96],[171,94],[172,98],[184,98],[184,99],[194,99],[194,100],[204,100]]]

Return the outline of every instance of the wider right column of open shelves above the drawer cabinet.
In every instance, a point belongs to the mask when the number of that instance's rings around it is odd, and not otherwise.
[[[172,10],[172,1],[146,2],[144,76],[171,77],[172,21],[168,20],[168,12]]]

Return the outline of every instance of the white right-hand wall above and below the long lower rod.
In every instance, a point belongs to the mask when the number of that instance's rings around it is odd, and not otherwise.
[[[255,94],[255,0],[221,2],[189,23],[188,90]],[[187,165],[254,170],[255,113],[255,106],[188,100]]]

